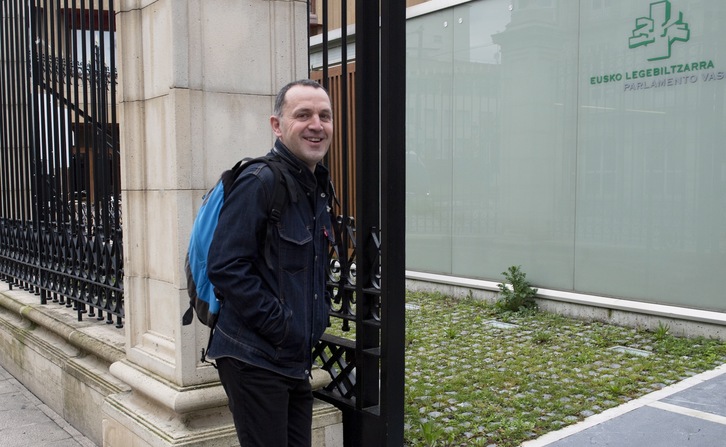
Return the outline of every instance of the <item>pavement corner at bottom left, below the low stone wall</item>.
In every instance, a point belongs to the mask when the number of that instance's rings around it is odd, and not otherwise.
[[[97,447],[0,366],[0,446]]]

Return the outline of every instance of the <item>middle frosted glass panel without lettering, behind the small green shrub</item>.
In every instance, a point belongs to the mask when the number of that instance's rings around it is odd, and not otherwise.
[[[577,8],[454,10],[453,272],[573,287]]]

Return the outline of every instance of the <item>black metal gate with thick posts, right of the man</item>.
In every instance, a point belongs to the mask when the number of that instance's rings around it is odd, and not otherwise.
[[[347,1],[322,0],[323,63],[316,75],[334,103],[338,147],[331,148],[331,156],[339,159],[330,165],[342,171],[334,173],[341,217],[328,290],[332,324],[344,332],[352,325],[355,335],[326,334],[316,346],[314,358],[333,379],[316,395],[343,411],[347,447],[393,447],[403,445],[405,1],[355,5],[351,77],[347,36],[339,49],[332,49],[327,35],[329,10],[340,13],[345,32]],[[342,53],[342,63],[335,67],[329,62],[333,51]],[[349,85],[352,79],[354,86]],[[354,113],[349,114],[352,98]]]

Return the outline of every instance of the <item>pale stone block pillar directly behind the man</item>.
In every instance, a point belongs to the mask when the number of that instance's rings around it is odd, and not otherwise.
[[[110,371],[131,391],[106,399],[104,446],[236,445],[199,360],[208,331],[181,324],[184,257],[203,193],[269,150],[274,95],[307,76],[307,2],[118,3],[126,358]]]

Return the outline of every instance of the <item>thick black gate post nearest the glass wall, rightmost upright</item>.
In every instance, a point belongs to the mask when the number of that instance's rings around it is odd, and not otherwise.
[[[381,1],[381,413],[403,445],[406,267],[406,3]]]

